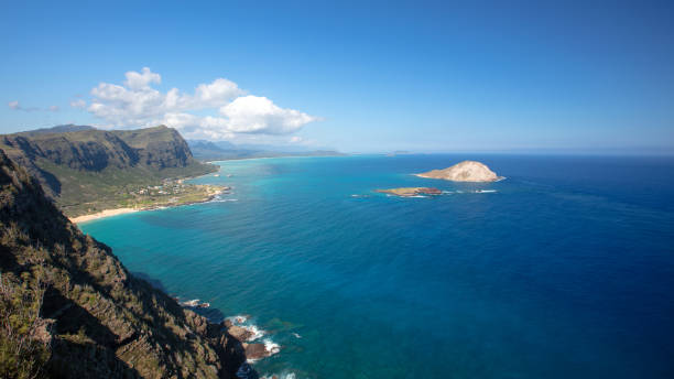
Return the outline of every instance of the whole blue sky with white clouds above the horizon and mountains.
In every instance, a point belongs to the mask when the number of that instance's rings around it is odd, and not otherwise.
[[[2,8],[0,132],[161,121],[350,152],[674,151],[672,2]]]

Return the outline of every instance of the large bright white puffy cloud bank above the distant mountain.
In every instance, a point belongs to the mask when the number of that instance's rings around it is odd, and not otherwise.
[[[162,77],[148,67],[140,73],[129,72],[126,78],[123,85],[100,83],[94,87],[86,109],[113,127],[164,123],[188,138],[207,139],[229,139],[238,133],[290,134],[318,120],[298,110],[281,108],[267,97],[247,95],[225,78],[199,84],[194,94],[154,88]],[[84,108],[86,102],[74,100],[70,106]]]

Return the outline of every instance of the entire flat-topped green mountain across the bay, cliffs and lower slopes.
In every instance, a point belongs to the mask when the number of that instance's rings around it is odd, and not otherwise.
[[[81,130],[80,130],[81,129]],[[25,167],[68,215],[117,207],[133,190],[164,178],[206,174],[177,131],[164,126],[96,130],[70,126],[0,137],[3,149]]]

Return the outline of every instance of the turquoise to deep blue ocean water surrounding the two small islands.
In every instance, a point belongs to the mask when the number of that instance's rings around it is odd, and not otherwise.
[[[508,178],[410,175],[464,159]],[[211,317],[250,314],[282,346],[254,364],[262,375],[674,377],[672,158],[219,164],[194,182],[233,186],[228,202],[81,229],[168,293],[210,302]],[[448,193],[372,192],[400,186]]]

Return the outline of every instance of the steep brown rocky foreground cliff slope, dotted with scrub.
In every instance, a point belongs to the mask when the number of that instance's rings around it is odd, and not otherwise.
[[[241,344],[129,274],[0,150],[0,377],[232,378]]]

